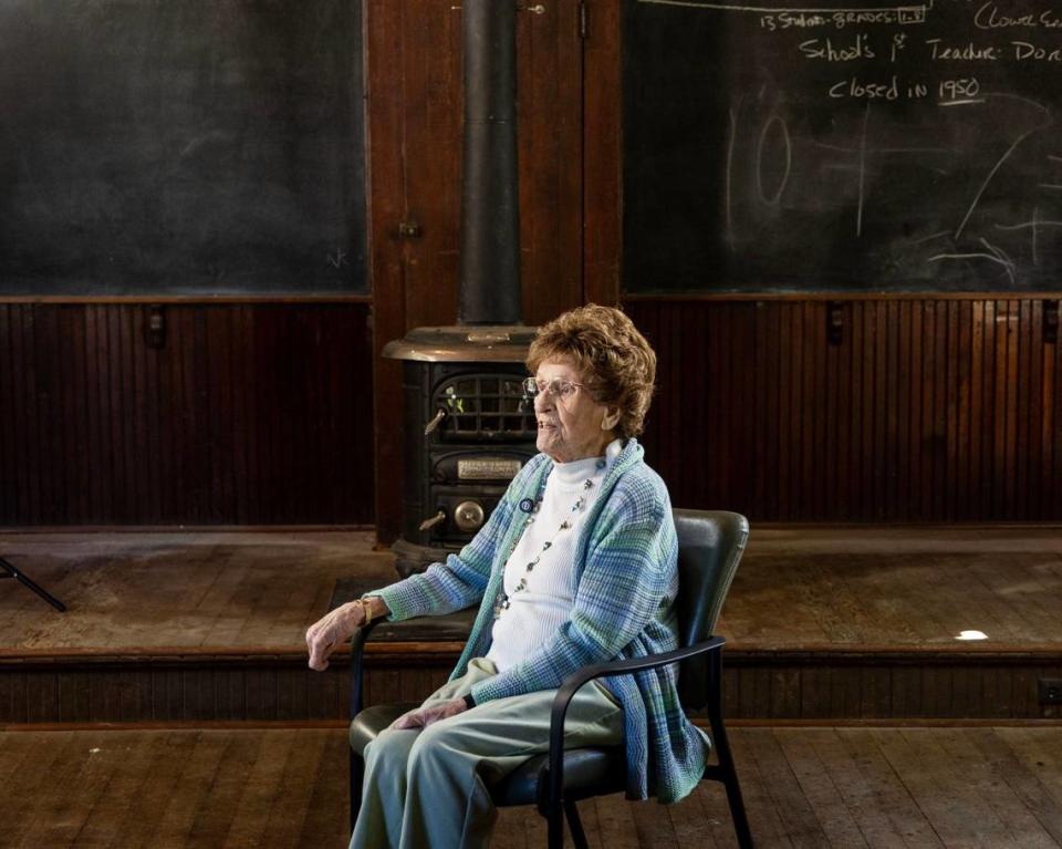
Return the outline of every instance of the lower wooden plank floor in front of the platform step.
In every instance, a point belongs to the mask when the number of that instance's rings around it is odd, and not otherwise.
[[[1062,728],[736,728],[760,847],[1062,846]],[[0,734],[0,846],[343,847],[343,731]],[[719,786],[581,805],[603,849],[735,845]],[[531,809],[493,845],[544,846]]]

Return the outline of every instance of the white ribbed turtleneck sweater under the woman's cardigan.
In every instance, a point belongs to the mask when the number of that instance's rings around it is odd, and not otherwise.
[[[614,439],[605,448],[603,458],[555,463],[546,479],[539,511],[517,514],[518,520],[525,521],[533,516],[534,521],[524,528],[506,562],[503,586],[509,608],[494,620],[491,646],[487,652],[487,660],[493,662],[498,672],[520,663],[546,643],[571,615],[575,543],[591,505],[601,491],[601,483],[622,449],[623,442]],[[587,488],[587,480],[593,486]],[[572,506],[579,498],[583,504],[573,511]],[[571,527],[558,530],[565,519]],[[546,541],[551,545],[543,551]],[[535,557],[539,562],[529,572],[528,563]],[[527,582],[527,588],[517,590],[521,579]]]

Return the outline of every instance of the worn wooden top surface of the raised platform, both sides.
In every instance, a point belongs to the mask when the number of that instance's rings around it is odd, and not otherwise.
[[[0,534],[0,556],[70,607],[0,582],[0,655],[298,651],[336,578],[394,578],[367,532]],[[1060,610],[1059,528],[753,529],[719,630],[733,650],[1058,651]]]

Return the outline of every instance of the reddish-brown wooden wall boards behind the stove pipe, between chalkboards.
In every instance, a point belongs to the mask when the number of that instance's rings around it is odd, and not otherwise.
[[[610,3],[617,27],[618,6]],[[413,328],[457,320],[461,10],[452,0],[367,0],[365,22],[378,352]],[[618,29],[608,39],[617,48]],[[583,302],[583,50],[579,2],[564,0],[545,6],[541,14],[517,15],[520,273],[527,324]],[[596,103],[601,117],[593,127],[615,131],[618,99]],[[615,147],[618,138],[606,144]],[[595,197],[614,204],[618,166],[608,175]],[[417,224],[419,235],[399,237],[402,221]],[[614,261],[601,260],[610,261],[614,272]],[[381,361],[376,376],[376,527],[381,541],[389,542],[400,527],[400,379],[394,363]]]

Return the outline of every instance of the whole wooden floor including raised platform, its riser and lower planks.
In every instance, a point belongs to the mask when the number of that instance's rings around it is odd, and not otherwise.
[[[339,578],[393,579],[369,534],[0,534],[0,556],[70,608],[0,581],[0,847],[345,845],[343,729],[217,723],[344,715],[345,677],[305,670],[303,633]],[[732,727],[758,845],[1062,847],[1062,726],[923,727],[1054,716],[1035,685],[1062,676],[1059,610],[1058,528],[753,529],[719,628],[730,715],[917,717]],[[446,664],[423,663],[381,666],[369,690],[427,692],[416,676]],[[174,719],[214,727],[134,727]],[[52,722],[131,725],[33,726]],[[596,847],[733,846],[711,784],[583,810]],[[530,810],[503,811],[496,836],[544,842]]]

